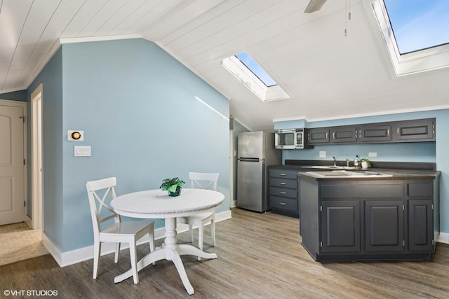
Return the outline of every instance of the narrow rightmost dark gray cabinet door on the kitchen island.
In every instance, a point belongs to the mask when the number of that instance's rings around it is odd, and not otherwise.
[[[434,239],[431,200],[408,200],[408,249],[431,251]]]

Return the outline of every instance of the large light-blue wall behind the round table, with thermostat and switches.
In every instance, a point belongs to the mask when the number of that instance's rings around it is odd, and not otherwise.
[[[159,188],[167,177],[187,181],[191,171],[219,172],[226,198],[217,211],[229,210],[225,97],[143,39],[65,44],[58,53],[53,59],[62,68],[53,67],[51,78],[44,70],[33,86],[44,86],[44,231],[62,251],[93,244],[90,180],[116,176],[120,195]],[[61,79],[53,91],[62,97],[54,102],[46,87]],[[67,141],[67,130],[82,130],[84,141]],[[92,156],[74,157],[75,145],[91,146]]]

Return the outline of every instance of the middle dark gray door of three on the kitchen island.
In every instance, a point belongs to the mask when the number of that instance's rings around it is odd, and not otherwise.
[[[403,251],[403,200],[365,202],[366,251]]]

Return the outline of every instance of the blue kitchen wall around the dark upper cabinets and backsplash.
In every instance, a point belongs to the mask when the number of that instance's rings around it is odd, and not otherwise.
[[[441,232],[449,233],[449,110],[422,111],[413,113],[397,113],[383,116],[364,118],[345,118],[341,120],[327,120],[319,122],[304,122],[304,120],[288,120],[274,123],[274,129],[294,127],[330,127],[337,125],[356,125],[363,123],[382,123],[396,120],[413,120],[420,118],[436,118],[436,142],[418,142],[401,144],[339,144],[329,146],[315,146],[309,150],[283,151],[285,160],[337,160],[349,159],[354,161],[355,155],[368,158],[369,152],[376,152],[376,158],[371,161],[397,162],[436,162],[436,168],[441,171],[440,178],[440,214]],[[326,151],[326,158],[319,157],[319,151]]]

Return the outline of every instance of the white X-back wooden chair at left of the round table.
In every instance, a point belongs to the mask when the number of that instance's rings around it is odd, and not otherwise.
[[[131,260],[131,268],[133,269],[134,283],[138,284],[139,276],[136,260],[136,241],[148,235],[149,249],[154,251],[154,223],[152,221],[121,221],[120,215],[116,214],[111,207],[106,204],[106,200],[116,197],[114,187],[116,186],[116,178],[101,179],[98,181],[88,181],[86,183],[89,204],[91,205],[91,215],[93,224],[93,278],[98,277],[98,260],[100,259],[101,243],[115,242],[114,263],[119,260],[120,244],[129,244],[129,254]],[[103,195],[98,195],[102,193]],[[109,196],[108,196],[109,195]],[[101,196],[101,197],[100,197]],[[109,225],[105,223],[110,219]],[[107,226],[105,226],[107,225]]]

